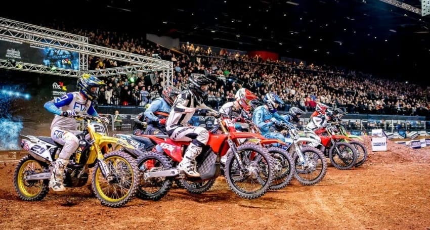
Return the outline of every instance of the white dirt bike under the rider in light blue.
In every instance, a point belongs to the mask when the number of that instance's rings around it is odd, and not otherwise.
[[[311,138],[300,137],[293,124],[279,122],[274,125],[274,128],[289,140],[288,145],[283,145],[281,148],[291,155],[295,168],[294,177],[300,185],[313,186],[320,182],[327,173],[327,162],[320,150],[308,145],[313,143],[318,146],[320,143]],[[252,130],[259,131],[256,127]]]

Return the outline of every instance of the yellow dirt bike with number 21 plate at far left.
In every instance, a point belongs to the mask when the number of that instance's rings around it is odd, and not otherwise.
[[[113,144],[133,149],[126,141],[106,135],[101,120],[89,115],[76,116],[86,122],[83,131],[77,131],[77,150],[71,155],[64,170],[65,187],[84,186],[92,168],[92,190],[102,205],[121,207],[136,194],[139,169],[136,160],[124,151],[113,151]],[[84,123],[85,123],[84,122]],[[20,135],[21,147],[29,155],[16,166],[14,186],[20,199],[39,201],[49,192],[48,183],[54,161],[63,148],[49,136]]]

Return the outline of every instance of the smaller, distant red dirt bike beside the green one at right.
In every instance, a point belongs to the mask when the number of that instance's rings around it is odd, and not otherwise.
[[[351,144],[341,141],[352,141],[352,139],[345,135],[331,133],[334,133],[332,126],[327,126],[308,134],[320,137],[322,144],[320,150],[330,159],[335,168],[345,170],[354,167],[357,162],[357,150]]]

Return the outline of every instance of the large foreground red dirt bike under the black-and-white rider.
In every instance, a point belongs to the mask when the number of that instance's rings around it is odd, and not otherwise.
[[[244,199],[255,199],[269,190],[274,177],[273,158],[260,145],[235,145],[237,139],[260,138],[261,135],[247,132],[229,132],[224,125],[223,116],[218,118],[218,127],[209,131],[209,140],[199,156],[196,157],[197,171],[200,177],[187,177],[177,168],[189,142],[176,142],[166,135],[142,135],[161,147],[159,152],[145,152],[138,158],[138,166],[143,173],[138,197],[159,200],[167,194],[173,179],[179,179],[188,192],[199,194],[207,191],[220,174],[220,159],[232,149],[227,158],[225,178],[230,189]],[[253,187],[253,188],[252,188]],[[150,190],[150,189],[153,190]],[[247,191],[249,188],[251,191]]]

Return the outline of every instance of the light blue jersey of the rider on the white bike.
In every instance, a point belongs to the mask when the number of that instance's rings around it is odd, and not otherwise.
[[[273,121],[271,121],[272,118],[289,124],[285,117],[279,115],[277,112],[271,113],[265,106],[257,107],[252,114],[252,122],[260,128],[262,135],[270,132],[270,126],[273,124]]]

